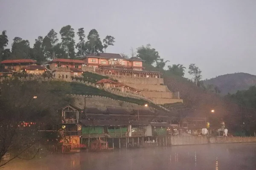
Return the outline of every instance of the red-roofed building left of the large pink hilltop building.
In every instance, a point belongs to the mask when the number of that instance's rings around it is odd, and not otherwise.
[[[73,60],[73,59],[64,59],[64,58],[56,58],[52,61],[48,62],[50,69],[53,68],[76,68],[81,69],[84,61],[81,60]]]

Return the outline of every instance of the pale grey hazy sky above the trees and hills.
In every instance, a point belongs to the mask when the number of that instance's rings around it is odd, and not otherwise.
[[[256,75],[256,0],[0,0],[0,31],[29,40],[71,25],[115,37],[109,53],[151,44],[167,65],[195,63],[203,79]],[[78,37],[76,35],[76,42]]]

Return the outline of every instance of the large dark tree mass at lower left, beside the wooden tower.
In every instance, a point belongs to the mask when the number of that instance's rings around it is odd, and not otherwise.
[[[29,148],[47,140],[47,135],[39,133],[38,128],[53,130],[60,121],[56,110],[70,102],[66,95],[69,88],[56,81],[13,79],[0,84],[0,160],[6,153],[12,153],[10,161],[23,157]],[[25,128],[22,122],[35,122],[35,125]],[[0,167],[4,164],[0,162]]]

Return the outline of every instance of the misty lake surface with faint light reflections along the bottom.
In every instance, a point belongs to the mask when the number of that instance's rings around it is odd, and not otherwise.
[[[52,154],[5,170],[255,170],[256,144],[205,144]]]

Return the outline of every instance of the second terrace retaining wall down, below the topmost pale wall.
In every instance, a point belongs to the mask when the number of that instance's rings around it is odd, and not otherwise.
[[[164,86],[164,85],[140,84],[137,82],[124,83],[124,84],[126,84],[127,86],[131,86],[134,89],[139,89],[143,91],[170,92],[167,86]]]

